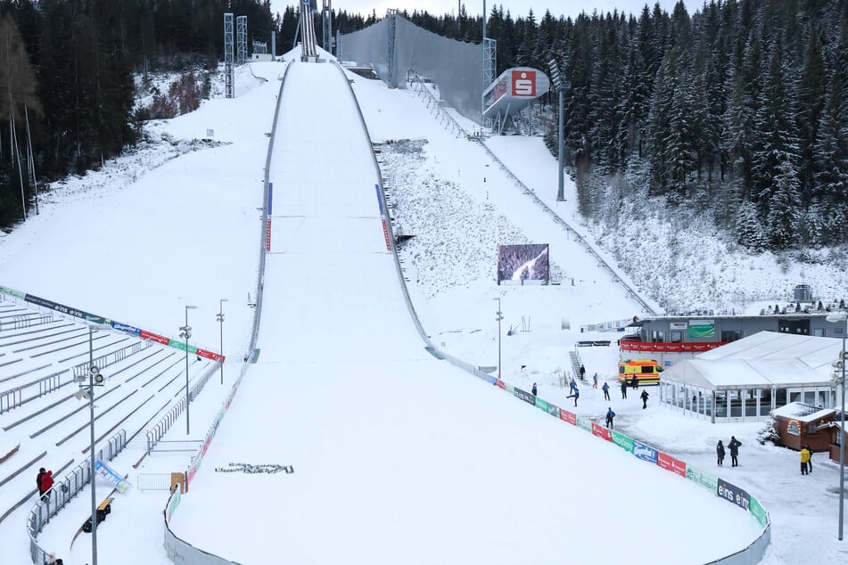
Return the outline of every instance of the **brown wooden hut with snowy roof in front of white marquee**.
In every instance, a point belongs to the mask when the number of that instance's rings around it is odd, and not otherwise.
[[[801,451],[804,444],[810,444],[813,452],[831,451],[831,428],[836,413],[834,408],[821,408],[803,402],[790,402],[770,412],[781,444],[798,451]]]

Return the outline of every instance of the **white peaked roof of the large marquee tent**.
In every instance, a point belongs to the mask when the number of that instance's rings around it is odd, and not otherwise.
[[[758,332],[686,359],[663,373],[704,389],[829,387],[842,340]]]

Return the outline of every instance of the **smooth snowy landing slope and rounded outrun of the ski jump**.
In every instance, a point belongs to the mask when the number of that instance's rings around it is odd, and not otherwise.
[[[746,512],[425,352],[346,78],[291,64],[261,353],[175,534],[245,565],[604,562],[635,557],[650,532],[663,544],[650,562],[704,563],[753,540]],[[575,545],[581,525],[617,547]]]

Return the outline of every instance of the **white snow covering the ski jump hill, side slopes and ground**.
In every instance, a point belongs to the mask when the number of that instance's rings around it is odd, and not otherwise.
[[[703,563],[749,544],[759,528],[746,512],[424,351],[385,252],[368,141],[358,133],[344,81],[330,65],[293,64],[269,171],[276,217],[259,362],[244,373],[172,518],[177,535],[243,563],[270,556],[515,563],[555,555]],[[192,404],[192,432],[177,422],[166,437],[172,441],[204,437],[250,343],[247,295],[255,299],[264,235],[266,134],[284,65],[250,67],[264,80],[237,89],[235,100],[212,99],[191,114],[148,124],[149,141],[137,151],[57,184],[39,216],[0,239],[4,286],[169,336],[185,323],[185,306],[197,306],[190,322],[204,348],[218,350],[215,314],[219,299],[229,300],[225,385],[207,385]],[[348,77],[375,142],[412,140],[383,143],[379,160],[392,214],[403,233],[415,235],[400,258],[437,347],[475,365],[501,358],[505,381],[525,390],[536,382],[539,397],[582,417],[603,422],[612,406],[616,430],[745,488],[770,512],[766,565],[809,562],[811,552],[820,563],[848,558],[836,541],[834,463],[819,454],[815,473],[802,479],[796,452],[756,442],[762,424],[709,424],[658,406],[655,394],[646,410],[637,391],[622,399],[618,334],[580,332],[581,325],[643,314],[617,277],[479,143],[434,119],[414,91]],[[215,143],[197,141],[208,129]],[[571,182],[566,201],[556,202],[556,160],[538,138],[487,145],[549,210],[597,245],[577,213]],[[516,242],[550,245],[552,284],[496,284],[497,245]],[[752,274],[746,289],[759,288],[760,276]],[[675,291],[687,295],[690,284]],[[496,299],[505,316],[500,336]],[[579,348],[599,383],[580,383],[579,405],[572,406],[564,399],[567,352],[578,340],[611,337],[613,347]],[[605,381],[610,401],[600,390]],[[743,443],[741,465],[717,471],[714,446],[731,434]],[[163,453],[133,470],[143,452],[131,445],[111,466],[137,483],[137,473],[188,465],[188,454]],[[216,471],[229,463],[292,465],[294,472]],[[98,494],[108,492],[103,487]],[[15,494],[0,489],[0,508]],[[168,563],[166,498],[137,487],[119,495],[99,528],[102,561]],[[79,496],[38,538],[69,565],[89,562],[90,536],[71,545],[87,504]],[[0,526],[10,562],[29,562],[28,510]]]

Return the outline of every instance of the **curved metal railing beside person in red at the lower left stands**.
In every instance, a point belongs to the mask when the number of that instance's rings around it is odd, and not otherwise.
[[[96,459],[100,461],[111,461],[127,446],[127,431],[120,430],[117,434],[106,441],[106,445],[97,451]],[[91,481],[91,459],[87,458],[79,463],[72,471],[62,479],[54,482],[54,487],[41,499],[33,504],[27,518],[27,532],[29,533],[29,556],[36,565],[42,565],[47,558],[47,553],[37,541],[37,536],[44,529],[47,522],[62,510],[70,500],[79,494]]]

